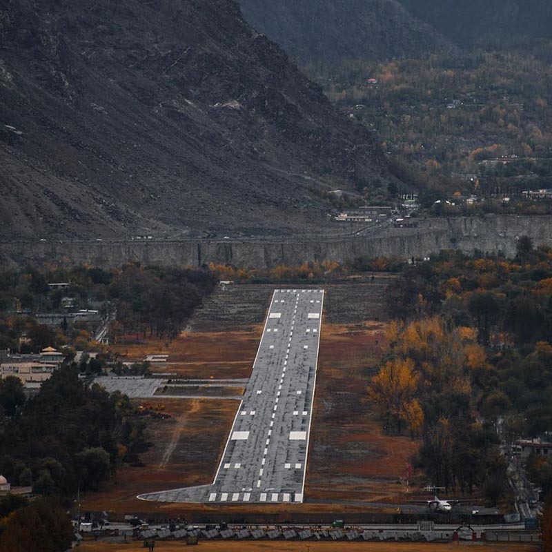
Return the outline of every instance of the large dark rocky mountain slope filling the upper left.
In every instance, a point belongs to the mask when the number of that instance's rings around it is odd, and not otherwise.
[[[0,0],[0,166],[1,239],[308,230],[386,180],[231,0]]]

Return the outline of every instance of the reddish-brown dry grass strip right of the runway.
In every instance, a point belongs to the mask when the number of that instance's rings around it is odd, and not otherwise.
[[[384,346],[384,323],[325,324],[320,344],[306,495],[312,499],[393,502],[417,449],[382,435],[366,386]]]

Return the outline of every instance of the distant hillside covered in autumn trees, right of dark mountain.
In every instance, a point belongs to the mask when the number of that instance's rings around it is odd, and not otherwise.
[[[513,197],[552,187],[551,52],[552,42],[542,41],[509,52],[305,69],[373,132],[391,165],[417,175],[403,176],[417,189]]]

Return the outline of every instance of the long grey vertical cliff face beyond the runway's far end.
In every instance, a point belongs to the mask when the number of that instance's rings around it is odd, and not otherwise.
[[[344,262],[380,255],[404,259],[426,257],[442,249],[501,252],[515,255],[517,239],[528,235],[535,244],[552,246],[552,217],[469,217],[430,219],[418,229],[401,228],[377,237],[304,241],[221,242],[20,242],[0,244],[0,266],[82,264],[117,268],[125,262],[158,266],[230,264],[273,268],[306,261]]]

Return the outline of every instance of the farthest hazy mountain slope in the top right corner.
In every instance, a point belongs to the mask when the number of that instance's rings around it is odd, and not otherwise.
[[[401,0],[415,16],[463,46],[505,46],[552,37],[549,0]]]

